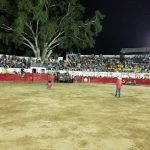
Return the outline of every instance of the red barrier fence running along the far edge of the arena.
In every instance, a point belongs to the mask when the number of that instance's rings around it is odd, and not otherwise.
[[[74,82],[76,83],[115,83],[115,77],[88,77],[88,76],[75,76]],[[48,80],[54,81],[54,76],[44,73],[25,73],[19,74],[0,74],[1,82],[47,82]],[[150,86],[150,79],[137,79],[137,78],[123,78],[123,81],[128,83],[136,83],[136,85]]]

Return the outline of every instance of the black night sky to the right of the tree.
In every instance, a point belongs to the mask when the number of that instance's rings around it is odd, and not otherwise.
[[[117,54],[121,48],[150,46],[150,0],[81,0],[86,16],[106,15],[95,53]]]

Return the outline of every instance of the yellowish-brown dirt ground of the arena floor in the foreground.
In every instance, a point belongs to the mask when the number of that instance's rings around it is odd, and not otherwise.
[[[0,83],[0,150],[150,150],[150,87]]]

